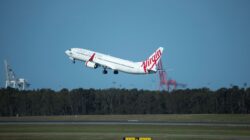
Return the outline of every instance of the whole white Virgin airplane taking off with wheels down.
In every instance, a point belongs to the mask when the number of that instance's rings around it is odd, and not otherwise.
[[[159,47],[147,60],[141,62],[124,60],[82,48],[71,48],[65,53],[73,63],[79,60],[85,62],[89,68],[103,67],[103,74],[108,73],[107,69],[112,69],[114,74],[118,74],[118,71],[129,74],[153,74],[157,72],[157,64],[161,59],[163,47]]]

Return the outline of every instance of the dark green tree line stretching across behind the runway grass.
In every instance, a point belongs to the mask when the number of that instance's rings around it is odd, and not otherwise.
[[[250,88],[0,89],[0,116],[250,113]]]

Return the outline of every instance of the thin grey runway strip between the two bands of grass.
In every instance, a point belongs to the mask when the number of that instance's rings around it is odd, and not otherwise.
[[[0,125],[162,125],[162,126],[228,126],[250,127],[243,123],[214,122],[166,122],[166,121],[0,121]]]

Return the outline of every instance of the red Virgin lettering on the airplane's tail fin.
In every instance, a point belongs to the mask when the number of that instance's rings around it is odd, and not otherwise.
[[[161,50],[157,50],[152,57],[142,62],[141,67],[143,67],[144,72],[147,73],[147,70],[152,70],[156,65],[156,62],[161,58]],[[149,69],[147,69],[149,67]]]

